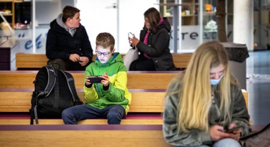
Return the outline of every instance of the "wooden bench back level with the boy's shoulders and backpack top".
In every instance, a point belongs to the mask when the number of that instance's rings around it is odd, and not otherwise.
[[[0,88],[34,88],[38,71],[0,71]],[[76,88],[83,88],[84,71],[68,71],[75,79]],[[167,89],[169,81],[179,71],[128,72],[129,89]]]

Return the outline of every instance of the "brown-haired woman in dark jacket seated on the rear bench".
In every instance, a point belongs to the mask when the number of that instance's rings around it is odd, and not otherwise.
[[[139,58],[131,63],[130,71],[173,71],[176,70],[169,50],[170,24],[155,8],[144,12],[144,27],[140,40],[129,38],[136,46]]]

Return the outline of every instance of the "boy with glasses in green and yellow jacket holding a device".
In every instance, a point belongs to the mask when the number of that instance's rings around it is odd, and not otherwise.
[[[109,33],[100,33],[96,39],[96,60],[85,70],[85,105],[65,109],[62,119],[65,124],[77,121],[106,118],[108,124],[120,124],[131,104],[131,93],[127,88],[127,69],[118,52],[114,52],[114,38]],[[100,75],[96,83],[89,76]]]

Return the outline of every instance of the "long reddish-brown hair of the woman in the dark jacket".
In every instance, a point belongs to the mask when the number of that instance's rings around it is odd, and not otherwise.
[[[161,19],[161,15],[156,8],[149,8],[144,12],[144,17],[148,18],[150,24],[150,32],[155,32],[158,29],[158,24]]]

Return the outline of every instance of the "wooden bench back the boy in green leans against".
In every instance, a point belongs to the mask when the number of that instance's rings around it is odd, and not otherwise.
[[[0,89],[0,112],[29,112],[34,89]],[[163,112],[165,89],[129,89],[132,106],[129,112]],[[84,102],[82,89],[77,89]]]

